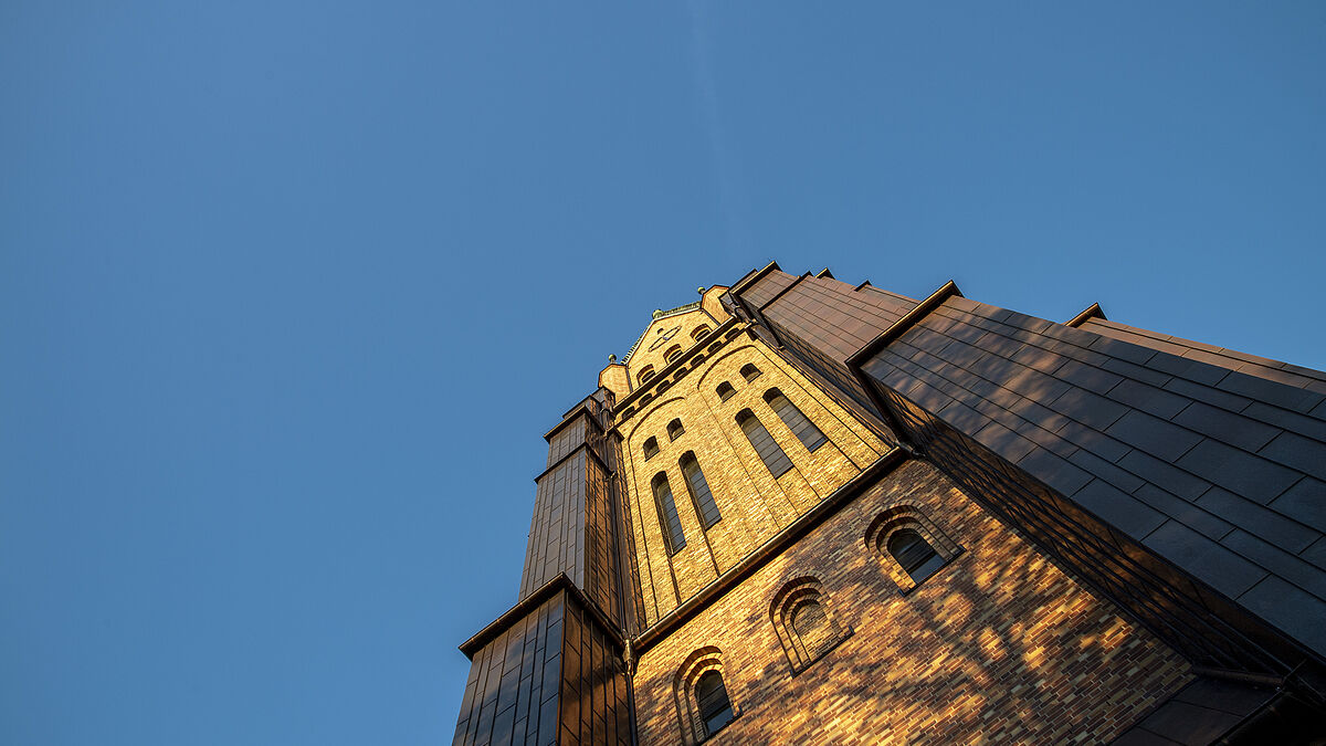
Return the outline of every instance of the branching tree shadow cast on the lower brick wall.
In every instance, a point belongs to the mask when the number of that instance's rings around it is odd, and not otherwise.
[[[855,634],[796,676],[785,657],[770,658],[757,684],[766,697],[749,710],[778,708],[790,742],[831,733],[861,743],[1049,743],[1086,733],[1079,743],[1098,743],[1185,678],[1175,653],[993,518],[973,516],[964,534],[972,551],[907,595],[882,567],[851,572],[858,580],[833,593],[878,599],[845,615]]]

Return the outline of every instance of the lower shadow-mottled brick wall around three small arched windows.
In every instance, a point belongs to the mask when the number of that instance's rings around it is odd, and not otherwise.
[[[907,595],[865,542],[903,500],[964,550]],[[793,676],[769,605],[806,575],[851,634]],[[674,680],[705,646],[721,650],[737,711],[715,746],[1102,743],[1191,680],[1177,654],[915,461],[644,652],[642,746],[688,742]]]

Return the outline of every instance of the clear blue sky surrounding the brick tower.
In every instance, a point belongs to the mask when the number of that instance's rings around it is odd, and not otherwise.
[[[0,743],[438,745],[540,437],[776,259],[1326,368],[1322,3],[0,4]]]

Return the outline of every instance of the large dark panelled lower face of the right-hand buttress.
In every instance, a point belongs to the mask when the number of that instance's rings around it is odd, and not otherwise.
[[[1025,328],[1032,325],[1045,327]],[[1326,463],[1326,443],[1260,421],[1249,411],[1252,398],[1227,398],[1236,390],[1303,415],[1321,400],[1309,389],[961,297],[916,324],[867,369],[1010,463],[1040,463],[1033,458],[1044,461],[1045,450],[1066,454],[1067,469],[1033,475],[1053,474],[1065,496],[1236,601],[1288,565],[1310,584],[1326,580],[1326,571],[1306,560],[1268,565],[1264,555],[1232,546],[1228,532],[1211,534],[1221,524],[1242,526],[1289,555],[1321,538],[1319,530],[1261,506],[1310,481],[1314,465]],[[1037,417],[1045,410],[1062,419]],[[1277,449],[1281,437],[1286,443],[1297,438],[1294,447]],[[1086,481],[1063,483],[1075,474]],[[1284,604],[1262,613],[1326,652],[1326,637],[1311,621],[1326,616],[1326,597],[1286,593]]]

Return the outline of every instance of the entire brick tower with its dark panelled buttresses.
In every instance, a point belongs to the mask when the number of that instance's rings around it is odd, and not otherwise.
[[[598,384],[457,746],[1326,738],[1323,373],[769,264]]]

